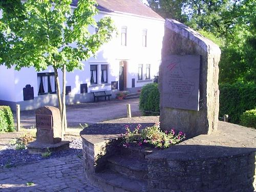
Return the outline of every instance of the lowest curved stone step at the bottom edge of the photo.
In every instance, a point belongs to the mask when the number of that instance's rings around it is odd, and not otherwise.
[[[147,192],[147,181],[130,179],[107,169],[95,174],[97,185],[108,192]]]

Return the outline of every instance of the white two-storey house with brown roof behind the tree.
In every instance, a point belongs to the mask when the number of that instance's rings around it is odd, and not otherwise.
[[[118,35],[98,51],[96,58],[84,61],[83,70],[67,73],[67,104],[90,102],[92,91],[138,90],[153,82],[161,62],[164,19],[139,0],[97,0],[95,19],[111,16]],[[72,7],[75,8],[77,0]],[[95,28],[90,28],[95,33]],[[61,79],[61,71],[59,71]],[[27,87],[26,87],[27,86]],[[62,86],[60,84],[60,86]],[[33,88],[33,90],[32,90]],[[0,66],[0,105],[22,110],[57,105],[53,69],[15,71]]]

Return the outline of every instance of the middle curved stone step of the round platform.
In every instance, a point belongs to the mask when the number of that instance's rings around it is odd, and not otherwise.
[[[147,161],[129,156],[112,156],[108,159],[108,167],[113,172],[132,179],[147,179]]]

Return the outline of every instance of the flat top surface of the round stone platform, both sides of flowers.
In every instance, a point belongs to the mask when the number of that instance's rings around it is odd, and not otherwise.
[[[138,123],[142,127],[152,126],[159,116],[121,118],[90,125],[80,132],[80,136],[92,144],[120,137],[125,125],[132,129]],[[256,130],[237,124],[219,121],[218,131],[210,135],[199,135],[185,140],[166,150],[159,150],[147,158],[202,159],[225,157],[248,152],[256,152]]]

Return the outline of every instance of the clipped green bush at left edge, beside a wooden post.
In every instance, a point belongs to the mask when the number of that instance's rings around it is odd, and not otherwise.
[[[0,106],[0,133],[15,130],[13,115],[10,106]]]

